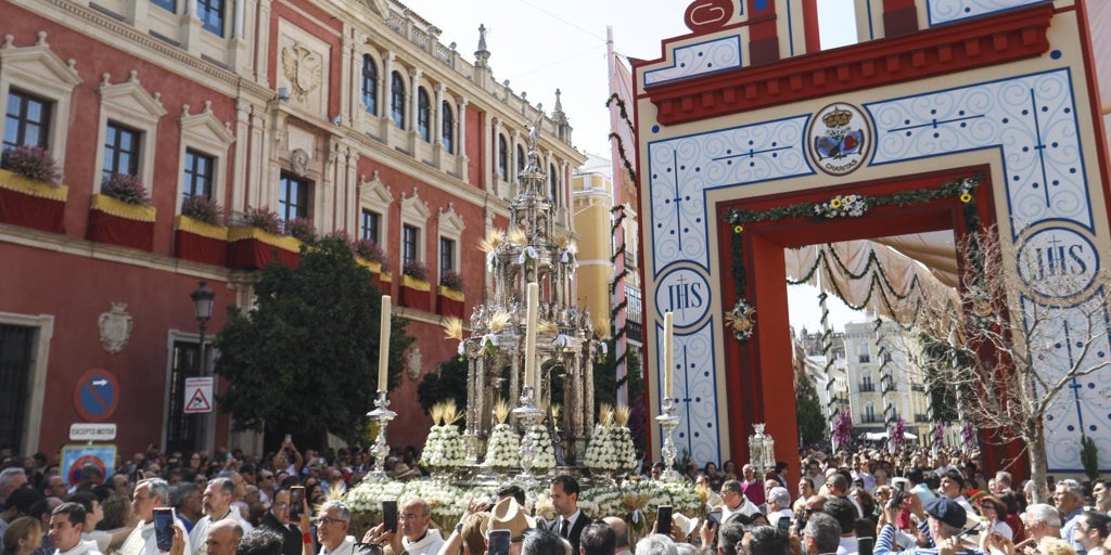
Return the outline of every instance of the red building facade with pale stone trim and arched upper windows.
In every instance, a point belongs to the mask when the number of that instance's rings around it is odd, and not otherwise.
[[[217,292],[218,333],[227,307],[250,306],[258,268],[276,253],[297,260],[292,238],[244,225],[262,208],[384,251],[370,271],[417,339],[391,393],[391,430],[407,433],[391,443],[420,445],[416,386],[456,354],[444,315],[466,320],[482,302],[484,265],[464,261],[508,222],[538,118],[569,226],[567,184],[582,157],[558,98],[541,114],[494,81],[481,36],[470,63],[400,3],[4,0],[0,17],[13,23],[0,47],[4,148],[49,150],[64,183],[0,174],[0,446],[50,453],[79,422],[117,424],[123,453],[190,445],[189,294],[199,281]],[[150,205],[106,198],[112,173],[138,176]],[[182,218],[194,194],[229,225]],[[428,265],[427,290],[403,287],[408,260]],[[461,295],[438,291],[449,270]],[[218,417],[217,446],[261,448],[230,424]]]

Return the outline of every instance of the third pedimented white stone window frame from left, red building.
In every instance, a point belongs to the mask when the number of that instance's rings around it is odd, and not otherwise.
[[[212,113],[212,102],[204,101],[204,109],[198,113],[189,113],[189,104],[181,107],[181,148],[178,150],[178,193],[174,198],[174,213],[181,213],[181,203],[186,190],[186,152],[196,151],[213,161],[212,200],[223,205],[227,193],[228,149],[236,142],[236,135],[228,124]]]

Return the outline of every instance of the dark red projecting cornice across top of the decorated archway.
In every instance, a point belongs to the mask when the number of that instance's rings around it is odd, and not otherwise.
[[[660,123],[745,112],[985,65],[1049,50],[1052,2],[690,80],[647,87]],[[638,74],[640,72],[638,71]]]

